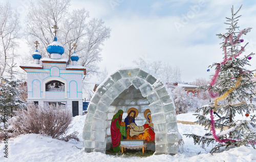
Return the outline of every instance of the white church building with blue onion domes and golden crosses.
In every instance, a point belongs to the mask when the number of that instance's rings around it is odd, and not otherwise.
[[[35,63],[20,66],[27,72],[27,101],[39,105],[58,103],[71,110],[73,116],[82,115],[82,78],[86,75],[86,68],[77,65],[79,57],[75,50],[70,58],[72,64],[68,58],[61,57],[65,49],[57,41],[56,29],[54,41],[47,47],[50,58],[41,59],[37,44],[36,41],[36,50],[32,55]]]

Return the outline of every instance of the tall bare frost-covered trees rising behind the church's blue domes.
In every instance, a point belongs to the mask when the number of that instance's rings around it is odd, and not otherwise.
[[[47,46],[54,39],[53,25],[58,26],[57,38],[65,47],[69,59],[73,54],[73,44],[76,43],[76,53],[79,64],[87,68],[88,77],[98,72],[101,61],[103,42],[110,38],[111,29],[104,21],[90,18],[85,9],[69,12],[70,0],[37,0],[31,2],[26,18],[26,35],[28,43],[40,42],[40,52],[43,57],[50,57]]]

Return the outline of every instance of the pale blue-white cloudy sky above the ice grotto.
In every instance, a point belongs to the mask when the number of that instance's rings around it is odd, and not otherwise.
[[[14,9],[26,9],[27,0],[11,0]],[[109,73],[125,66],[133,66],[140,57],[148,62],[162,61],[182,72],[182,81],[208,78],[213,62],[222,61],[220,40],[216,34],[226,33],[225,17],[230,17],[232,5],[242,17],[240,30],[251,27],[243,36],[250,42],[246,54],[256,52],[256,1],[225,0],[71,0],[71,10],[86,8],[91,17],[102,18],[112,29],[111,38],[105,41],[102,62]],[[256,66],[256,57],[250,60]]]

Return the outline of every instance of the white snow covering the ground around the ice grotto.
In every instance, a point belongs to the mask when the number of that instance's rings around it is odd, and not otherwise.
[[[195,121],[192,115],[195,113],[180,114],[177,120]],[[256,114],[253,113],[253,114]],[[200,125],[188,125],[178,123],[180,134],[184,140],[184,152],[182,154],[152,155],[149,157],[117,157],[99,152],[86,153],[82,149],[82,128],[84,116],[73,118],[68,133],[78,131],[81,142],[63,142],[39,134],[25,134],[15,139],[9,139],[8,159],[4,157],[5,144],[0,144],[0,161],[256,161],[256,150],[245,146],[233,148],[221,153],[211,155],[199,145],[194,145],[193,139],[186,138],[185,133],[204,135],[206,130]],[[238,117],[239,118],[239,117]],[[241,117],[244,118],[244,117]],[[212,146],[207,147],[211,149]]]

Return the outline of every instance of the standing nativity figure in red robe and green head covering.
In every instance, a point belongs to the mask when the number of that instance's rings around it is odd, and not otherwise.
[[[113,150],[114,151],[120,151],[120,141],[123,140],[123,136],[124,135],[123,132],[123,128],[124,128],[124,132],[125,132],[125,126],[121,126],[121,122],[122,122],[122,115],[123,115],[123,111],[119,110],[114,116],[113,119],[111,121],[111,139],[112,139],[112,146],[113,146]],[[126,136],[126,134],[125,134]]]

